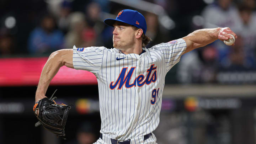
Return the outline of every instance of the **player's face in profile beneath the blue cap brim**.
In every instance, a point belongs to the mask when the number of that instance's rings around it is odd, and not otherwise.
[[[130,48],[135,43],[135,31],[126,23],[114,24],[113,28],[113,47],[117,49]]]

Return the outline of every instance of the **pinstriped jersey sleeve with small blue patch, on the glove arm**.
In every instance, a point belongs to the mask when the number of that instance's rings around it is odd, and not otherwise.
[[[94,74],[101,68],[105,47],[73,47],[73,65],[77,70],[87,70]]]

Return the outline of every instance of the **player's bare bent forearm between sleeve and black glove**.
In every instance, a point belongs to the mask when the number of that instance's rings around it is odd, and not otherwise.
[[[37,86],[36,102],[45,97],[50,81],[57,74],[60,67],[63,66],[62,60],[60,58],[60,54],[58,52],[54,52],[50,55],[46,64],[44,65]]]

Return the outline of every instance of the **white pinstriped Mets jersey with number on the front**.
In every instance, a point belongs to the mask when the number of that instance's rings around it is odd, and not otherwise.
[[[143,137],[159,124],[165,75],[179,62],[186,42],[177,39],[143,50],[138,55],[116,48],[73,47],[74,68],[97,77],[103,139]]]

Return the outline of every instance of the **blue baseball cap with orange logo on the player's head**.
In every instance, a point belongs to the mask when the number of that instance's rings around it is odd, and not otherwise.
[[[108,26],[113,26],[114,22],[119,21],[119,22],[124,22],[129,25],[141,28],[143,30],[143,33],[146,34],[146,20],[145,17],[140,14],[138,11],[134,10],[121,10],[116,19],[108,18],[104,20],[106,25]]]

